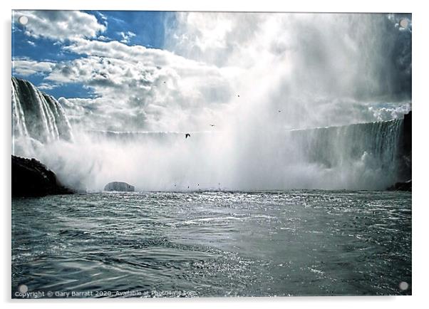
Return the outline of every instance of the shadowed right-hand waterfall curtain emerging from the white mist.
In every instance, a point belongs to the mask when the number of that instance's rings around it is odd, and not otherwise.
[[[316,167],[318,187],[383,189],[401,177],[403,121],[291,130],[289,162]]]

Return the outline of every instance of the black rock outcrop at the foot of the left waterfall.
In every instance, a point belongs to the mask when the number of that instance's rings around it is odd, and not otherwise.
[[[38,160],[12,155],[12,197],[72,193],[58,181],[54,172]]]

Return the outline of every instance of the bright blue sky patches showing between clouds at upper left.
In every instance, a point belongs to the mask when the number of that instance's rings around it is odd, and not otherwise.
[[[128,46],[145,46],[162,49],[165,38],[165,21],[172,20],[173,12],[160,11],[83,11],[94,16],[98,23],[104,25],[105,31],[97,36],[88,38],[96,41],[119,41]],[[29,21],[31,22],[31,20]],[[18,21],[12,25],[12,57],[13,59],[29,59],[31,61],[48,61],[52,63],[67,63],[78,58],[87,57],[85,54],[73,53],[64,49],[73,42],[64,38],[63,41],[34,37],[26,33],[25,26]],[[93,98],[91,88],[82,83],[53,83],[45,80],[49,72],[35,74],[20,74],[12,70],[12,75],[29,80],[36,86],[41,86],[44,92],[66,98]]]

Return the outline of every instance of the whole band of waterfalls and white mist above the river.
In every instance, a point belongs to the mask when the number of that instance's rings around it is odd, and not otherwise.
[[[403,119],[309,130],[74,130],[58,102],[12,80],[14,155],[36,157],[74,189],[386,189],[400,178]],[[25,103],[24,103],[25,102]],[[73,136],[73,139],[72,139]]]

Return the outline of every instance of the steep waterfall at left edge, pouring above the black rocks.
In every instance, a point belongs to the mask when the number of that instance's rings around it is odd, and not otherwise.
[[[67,116],[55,98],[27,80],[12,78],[12,138],[15,153],[16,147],[22,149],[29,147],[29,143],[45,144],[59,139],[71,141],[73,135]]]

